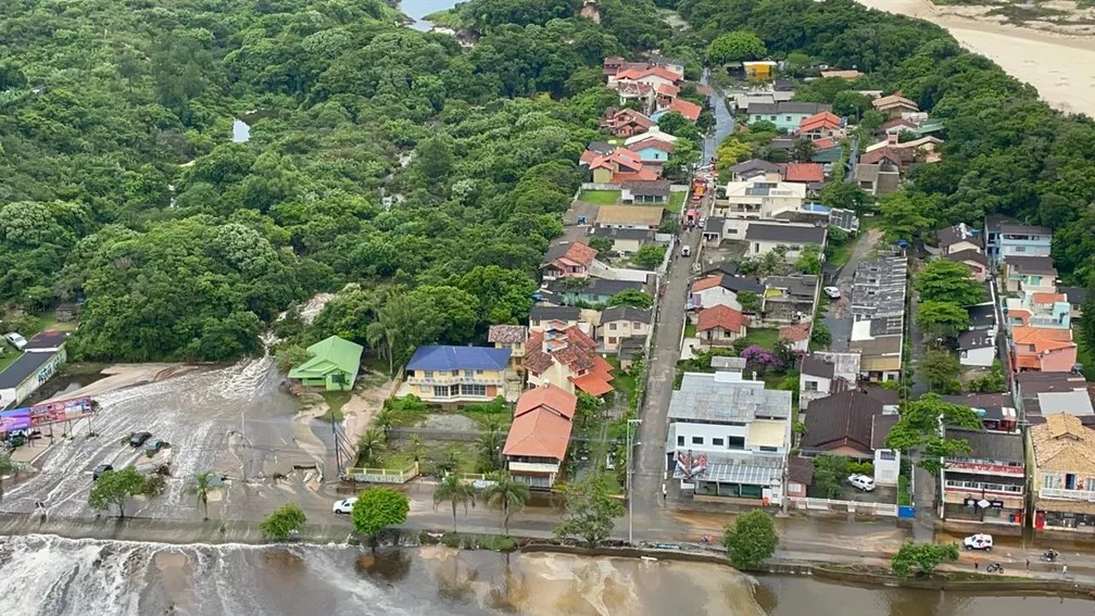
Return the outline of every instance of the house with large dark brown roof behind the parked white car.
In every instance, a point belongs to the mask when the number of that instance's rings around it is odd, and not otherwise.
[[[806,413],[806,433],[798,440],[798,447],[812,454],[871,460],[875,483],[897,486],[901,453],[885,445],[897,415],[886,415],[884,400],[874,392],[855,387],[814,400]]]

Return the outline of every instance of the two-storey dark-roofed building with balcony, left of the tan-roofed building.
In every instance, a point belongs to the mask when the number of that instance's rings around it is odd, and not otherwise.
[[[965,441],[968,453],[943,459],[940,517],[1022,527],[1026,510],[1023,436],[944,426],[947,440]]]

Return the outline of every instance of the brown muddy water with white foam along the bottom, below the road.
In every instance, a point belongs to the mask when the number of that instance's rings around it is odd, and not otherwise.
[[[1093,603],[758,580],[726,567],[347,546],[0,537],[0,614],[1072,616]]]

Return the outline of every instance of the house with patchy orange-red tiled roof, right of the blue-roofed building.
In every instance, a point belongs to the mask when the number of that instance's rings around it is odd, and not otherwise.
[[[577,327],[549,329],[529,336],[525,355],[529,384],[554,384],[568,392],[603,396],[612,391],[612,364],[597,354],[597,342]]]

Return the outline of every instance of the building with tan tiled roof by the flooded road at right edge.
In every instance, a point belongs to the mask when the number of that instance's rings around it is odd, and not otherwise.
[[[1068,413],[1030,427],[1035,529],[1095,532],[1095,433]]]

